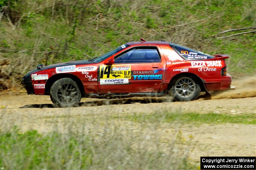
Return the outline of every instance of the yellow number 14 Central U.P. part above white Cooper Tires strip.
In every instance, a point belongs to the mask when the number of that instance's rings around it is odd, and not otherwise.
[[[131,79],[131,65],[100,66],[100,79]]]

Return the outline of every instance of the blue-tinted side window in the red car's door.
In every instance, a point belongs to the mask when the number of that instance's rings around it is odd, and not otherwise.
[[[133,48],[115,58],[115,63],[150,63],[160,61],[161,59],[156,47]]]

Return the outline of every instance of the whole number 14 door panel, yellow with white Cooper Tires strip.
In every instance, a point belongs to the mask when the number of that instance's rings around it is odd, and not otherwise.
[[[100,66],[100,84],[128,84],[132,78],[130,64]]]

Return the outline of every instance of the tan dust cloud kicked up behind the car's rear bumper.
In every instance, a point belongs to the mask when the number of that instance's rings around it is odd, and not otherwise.
[[[223,90],[211,92],[211,99],[236,99],[256,96],[256,76],[234,79],[231,86],[236,86],[236,90]],[[255,103],[254,103],[255,104]]]

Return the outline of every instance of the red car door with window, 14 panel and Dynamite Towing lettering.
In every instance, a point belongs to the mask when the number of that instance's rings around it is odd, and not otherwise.
[[[165,58],[159,49],[159,46],[131,47],[115,56],[114,64],[101,64],[99,92],[158,92],[166,67]]]

